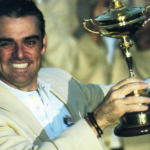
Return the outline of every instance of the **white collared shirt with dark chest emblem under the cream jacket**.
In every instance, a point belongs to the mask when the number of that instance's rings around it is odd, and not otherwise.
[[[49,83],[38,79],[38,91],[30,92],[12,88],[2,81],[0,83],[32,112],[51,140],[66,130],[69,127],[68,125],[73,124],[73,119],[64,103],[50,92]],[[65,123],[64,119],[67,118],[70,121]]]

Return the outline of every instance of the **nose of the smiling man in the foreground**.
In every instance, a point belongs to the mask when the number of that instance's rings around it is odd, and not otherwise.
[[[15,50],[13,53],[14,57],[16,57],[20,60],[24,58],[25,52],[24,52],[24,48],[22,45],[16,45],[14,50]]]

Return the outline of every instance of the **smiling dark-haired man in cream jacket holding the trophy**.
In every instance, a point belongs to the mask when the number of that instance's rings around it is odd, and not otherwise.
[[[1,150],[103,150],[98,137],[107,126],[147,110],[138,104],[149,98],[125,97],[148,87],[139,79],[106,95],[109,87],[83,85],[60,69],[39,71],[46,44],[43,16],[32,1],[0,1]]]

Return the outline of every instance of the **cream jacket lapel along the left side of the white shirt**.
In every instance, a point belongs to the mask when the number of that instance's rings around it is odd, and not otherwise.
[[[31,130],[43,141],[48,141],[49,138],[38,120],[30,112],[30,110],[20,102],[7,88],[0,84],[0,107],[13,113],[26,123]],[[5,94],[4,94],[5,93]],[[22,112],[22,113],[20,113]],[[41,134],[42,132],[42,134]]]

